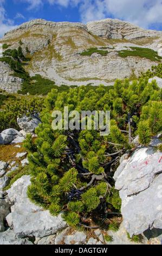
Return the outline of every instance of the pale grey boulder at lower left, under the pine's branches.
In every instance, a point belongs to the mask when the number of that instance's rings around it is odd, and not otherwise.
[[[14,205],[6,219],[13,227],[16,237],[43,237],[66,228],[67,223],[62,220],[61,215],[53,217],[48,210],[42,210],[29,201],[27,187],[30,185],[30,178],[28,175],[22,176],[7,190],[8,199]]]

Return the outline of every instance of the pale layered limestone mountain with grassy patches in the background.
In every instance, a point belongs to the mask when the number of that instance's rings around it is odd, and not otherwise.
[[[57,86],[113,85],[116,78],[138,78],[161,62],[162,32],[142,29],[118,19],[91,21],[87,25],[42,19],[23,23],[0,40],[9,48],[20,46],[28,57],[24,69],[40,74]],[[27,51],[29,50],[29,52]],[[8,64],[0,62],[0,87],[21,88]]]

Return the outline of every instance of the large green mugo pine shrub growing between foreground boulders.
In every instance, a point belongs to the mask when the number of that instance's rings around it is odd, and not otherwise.
[[[53,89],[44,105],[37,138],[33,141],[28,135],[24,142],[32,176],[27,191],[31,202],[53,216],[62,212],[64,220],[73,226],[84,223],[84,216],[102,219],[108,211],[120,212],[121,200],[112,176],[127,149],[147,145],[162,129],[157,84],[141,78],[132,84],[116,80],[109,92],[102,85],[95,92],[86,92],[85,86],[68,93]],[[63,113],[64,106],[69,112],[79,113],[110,110],[109,135],[100,136],[100,129],[93,127],[93,117],[92,130],[53,130],[51,113]],[[69,121],[74,119],[69,117]],[[134,142],[137,134],[139,142]]]

